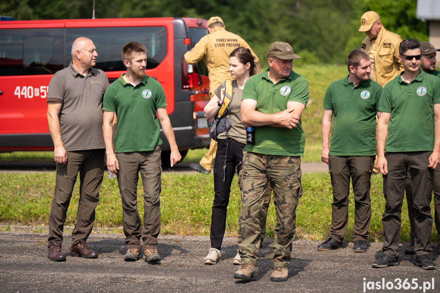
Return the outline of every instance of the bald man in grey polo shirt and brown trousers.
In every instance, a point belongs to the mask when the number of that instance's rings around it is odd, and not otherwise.
[[[63,228],[73,187],[80,173],[80,201],[72,232],[71,256],[96,258],[86,240],[95,222],[102,183],[105,144],[102,135],[102,98],[109,80],[96,65],[96,47],[88,38],[72,45],[72,62],[49,83],[47,121],[57,162],[55,193],[49,214],[47,257],[65,261],[61,250]]]

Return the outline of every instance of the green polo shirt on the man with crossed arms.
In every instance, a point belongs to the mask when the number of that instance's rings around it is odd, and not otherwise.
[[[308,82],[301,75],[291,72],[276,85],[268,77],[269,69],[251,76],[244,86],[243,100],[257,101],[256,111],[274,114],[287,109],[287,102],[307,105]],[[305,134],[301,119],[296,128],[256,126],[255,145],[246,145],[245,151],[271,155],[304,155]]]

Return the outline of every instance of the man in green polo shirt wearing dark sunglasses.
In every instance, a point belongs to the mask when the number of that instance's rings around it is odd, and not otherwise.
[[[373,268],[398,264],[401,209],[409,168],[415,209],[417,264],[435,270],[429,248],[433,171],[440,162],[440,79],[420,70],[420,43],[399,45],[404,72],[387,83],[379,101],[377,168],[383,175],[383,255]]]

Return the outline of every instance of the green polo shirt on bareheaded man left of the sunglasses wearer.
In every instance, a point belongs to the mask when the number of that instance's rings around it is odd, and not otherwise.
[[[376,112],[382,86],[371,79],[357,87],[347,75],[330,84],[324,109],[333,111],[329,155],[376,154]]]

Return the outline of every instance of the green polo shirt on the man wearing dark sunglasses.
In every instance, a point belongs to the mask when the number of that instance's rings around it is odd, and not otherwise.
[[[391,113],[385,152],[432,151],[434,104],[440,102],[440,79],[420,70],[407,84],[397,75],[383,88],[379,111]]]

